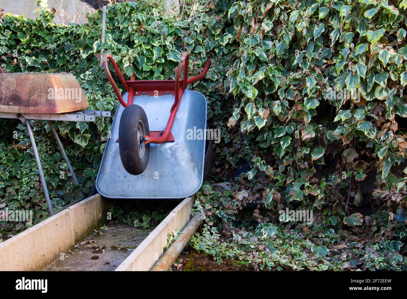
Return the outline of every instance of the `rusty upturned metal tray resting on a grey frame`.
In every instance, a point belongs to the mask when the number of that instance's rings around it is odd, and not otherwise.
[[[67,113],[88,107],[70,73],[0,73],[0,112]]]

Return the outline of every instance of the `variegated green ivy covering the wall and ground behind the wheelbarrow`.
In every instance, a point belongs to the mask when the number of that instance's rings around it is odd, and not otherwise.
[[[117,100],[98,67],[100,50],[112,53],[126,76],[150,80],[174,76],[184,50],[190,52],[191,74],[210,58],[207,79],[190,88],[206,95],[209,123],[221,128],[211,181],[230,180],[234,191],[204,185],[197,209],[205,210],[209,226],[193,246],[219,260],[235,258],[259,268],[342,269],[362,263],[399,269],[405,264],[406,231],[389,213],[405,207],[400,170],[407,147],[406,7],[404,0],[214,0],[187,7],[180,19],[167,16],[160,2],[131,2],[108,7],[103,45],[99,12],[88,24],[70,26],[54,24],[52,12],[37,20],[6,15],[0,24],[0,71],[72,72],[90,109],[114,111]],[[360,102],[333,94],[344,87],[359,91]],[[16,121],[0,122],[0,203],[33,208],[38,222],[47,213],[28,135]],[[109,120],[63,122],[58,130],[82,187],[91,188]],[[38,122],[35,134],[53,204],[63,205],[78,196],[76,189],[69,178],[59,179],[66,164],[50,129]],[[245,165],[248,171],[233,180],[236,168]],[[65,202],[57,189],[67,194]],[[256,210],[255,223],[236,222],[236,214],[258,199],[269,214]],[[376,212],[364,216],[359,207],[366,204]],[[285,207],[313,210],[314,224],[280,222],[278,211]],[[315,240],[279,244],[287,254],[285,264],[279,261],[273,242],[300,234]],[[221,242],[220,236],[233,242]],[[342,249],[350,260],[338,258],[333,242],[347,244]]]

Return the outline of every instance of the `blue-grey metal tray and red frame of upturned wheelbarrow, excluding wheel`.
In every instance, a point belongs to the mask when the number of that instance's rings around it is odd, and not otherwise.
[[[185,58],[185,55],[182,57]],[[113,63],[122,80],[123,76],[114,60],[105,56],[105,72],[109,81],[112,83],[113,79],[107,69],[107,58]],[[134,81],[133,76],[133,80],[125,81],[128,84],[127,88],[123,84],[128,90],[123,97],[117,89],[116,96],[120,103],[96,177],[96,189],[101,195],[122,199],[182,199],[195,194],[201,187],[204,177],[206,140],[205,138],[194,140],[196,138],[187,137],[188,133],[193,134],[198,129],[206,132],[207,102],[201,93],[183,89],[183,87],[203,78],[209,69],[210,61],[206,63],[204,72],[200,76],[190,79],[187,79],[188,72],[186,71],[188,61],[185,65],[182,63],[184,61],[179,63],[179,72],[177,72],[175,81]],[[184,66],[184,82],[179,81],[182,66]],[[134,82],[138,82],[140,85],[133,85]],[[178,85],[181,90],[178,103],[174,84]],[[114,81],[112,85],[116,91]],[[129,101],[129,94],[134,95],[134,104],[142,107],[147,115],[149,136],[153,136],[154,140],[165,137],[163,142],[149,144],[150,156],[147,167],[138,175],[131,175],[126,171],[119,152],[120,119],[125,106],[133,103],[132,100]],[[174,112],[175,106],[177,109]],[[168,124],[172,117],[173,122],[169,126],[169,130],[171,130],[169,131]]]

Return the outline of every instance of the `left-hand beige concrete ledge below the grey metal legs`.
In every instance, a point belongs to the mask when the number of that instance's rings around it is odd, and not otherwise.
[[[97,228],[104,211],[103,199],[96,194],[0,243],[0,269],[43,270]]]

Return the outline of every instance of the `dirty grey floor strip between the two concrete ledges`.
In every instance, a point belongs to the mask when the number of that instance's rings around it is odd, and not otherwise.
[[[62,253],[46,271],[114,271],[154,228],[109,225]]]

